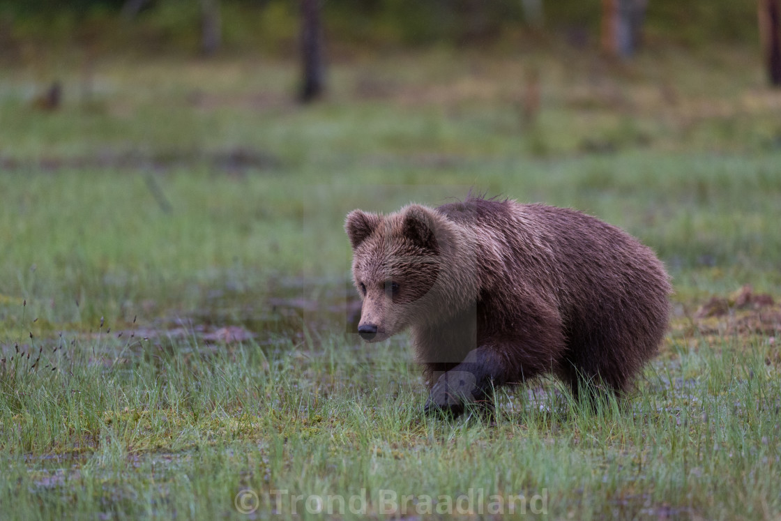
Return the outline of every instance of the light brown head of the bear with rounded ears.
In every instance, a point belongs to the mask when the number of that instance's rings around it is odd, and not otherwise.
[[[363,301],[358,334],[364,340],[382,341],[431,319],[445,304],[443,286],[458,242],[458,229],[445,216],[421,205],[388,216],[354,210],[344,229]]]

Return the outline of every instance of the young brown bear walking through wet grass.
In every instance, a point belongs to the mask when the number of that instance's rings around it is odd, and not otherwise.
[[[575,398],[622,394],[657,351],[669,277],[625,231],[572,209],[469,196],[345,230],[362,298],[358,334],[407,327],[426,368],[426,412],[490,402],[494,386],[552,373]]]

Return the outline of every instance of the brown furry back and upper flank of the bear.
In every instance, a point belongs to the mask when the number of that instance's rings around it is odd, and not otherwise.
[[[437,212],[490,242],[491,252],[501,244],[501,269],[484,271],[483,287],[537,294],[579,329],[616,318],[666,320],[671,287],[662,262],[619,227],[573,209],[495,198],[469,197]]]

